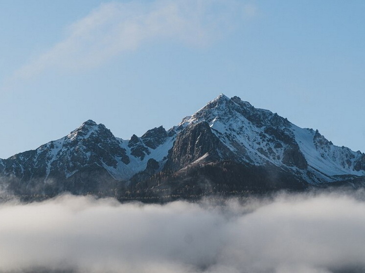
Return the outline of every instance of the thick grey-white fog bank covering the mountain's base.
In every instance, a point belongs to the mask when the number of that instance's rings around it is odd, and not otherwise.
[[[0,272],[365,271],[365,202],[330,193],[224,205],[70,195],[0,205]]]

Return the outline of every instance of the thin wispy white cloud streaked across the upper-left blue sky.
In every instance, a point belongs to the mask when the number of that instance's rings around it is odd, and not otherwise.
[[[103,3],[68,26],[68,35],[15,72],[15,78],[48,69],[78,70],[100,65],[141,44],[171,39],[202,46],[255,8],[237,0],[156,0]]]

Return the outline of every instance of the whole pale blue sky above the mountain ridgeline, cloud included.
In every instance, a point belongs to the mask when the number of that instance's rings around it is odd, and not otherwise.
[[[220,93],[365,152],[363,0],[0,0],[0,158],[92,119],[177,125]]]

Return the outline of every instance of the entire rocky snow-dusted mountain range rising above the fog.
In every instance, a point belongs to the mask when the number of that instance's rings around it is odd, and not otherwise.
[[[88,120],[0,160],[2,189],[20,196],[69,191],[155,200],[364,181],[364,153],[223,94],[167,131],[160,126],[123,140]]]

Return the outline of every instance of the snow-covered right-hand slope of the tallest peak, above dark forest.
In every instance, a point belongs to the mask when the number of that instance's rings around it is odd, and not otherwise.
[[[212,132],[235,155],[236,161],[252,165],[268,163],[307,172],[309,183],[333,182],[339,175],[365,175],[364,153],[334,146],[317,131],[299,128],[269,110],[257,109],[238,97],[221,94],[181,126],[206,122]],[[223,156],[221,157],[223,158]]]

